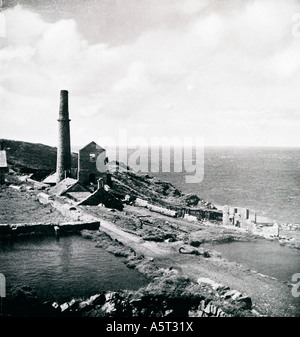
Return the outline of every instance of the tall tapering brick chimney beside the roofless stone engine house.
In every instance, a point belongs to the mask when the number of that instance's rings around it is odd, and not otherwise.
[[[58,118],[58,145],[56,183],[65,179],[71,171],[71,141],[68,91],[61,90]]]

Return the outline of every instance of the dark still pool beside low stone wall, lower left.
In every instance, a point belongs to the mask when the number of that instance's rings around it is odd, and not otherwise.
[[[148,281],[95,242],[80,235],[39,237],[0,242],[0,273],[7,295],[13,286],[27,285],[42,300],[62,303],[101,291],[139,289]]]

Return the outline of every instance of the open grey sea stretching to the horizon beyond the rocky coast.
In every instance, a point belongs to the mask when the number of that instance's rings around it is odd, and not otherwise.
[[[150,160],[156,159],[149,154]],[[199,183],[187,183],[186,172],[149,174],[216,205],[246,207],[279,223],[300,223],[300,148],[205,147]]]

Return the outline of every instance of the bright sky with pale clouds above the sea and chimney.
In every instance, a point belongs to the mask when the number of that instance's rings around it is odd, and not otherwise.
[[[3,0],[0,138],[300,146],[299,0]]]

